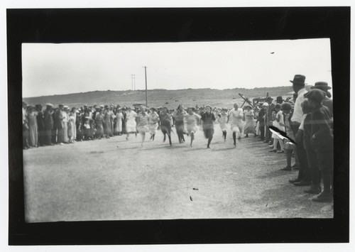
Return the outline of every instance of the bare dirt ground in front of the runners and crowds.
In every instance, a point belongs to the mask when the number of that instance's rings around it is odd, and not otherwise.
[[[24,150],[26,219],[332,218],[332,204],[288,182],[285,155],[250,135],[234,148],[215,125],[212,149],[202,131],[192,147],[159,131],[143,148],[138,134]]]

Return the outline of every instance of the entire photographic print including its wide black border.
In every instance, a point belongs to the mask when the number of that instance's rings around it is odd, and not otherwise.
[[[11,243],[349,241],[346,15],[8,10]]]

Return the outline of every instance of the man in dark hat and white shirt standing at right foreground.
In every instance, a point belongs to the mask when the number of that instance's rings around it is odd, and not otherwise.
[[[303,101],[305,101],[305,97],[303,95],[307,93],[307,90],[305,89],[305,79],[306,77],[304,75],[295,75],[293,80],[290,80],[290,82],[292,82],[293,84],[293,91],[297,94],[295,107],[293,109],[293,116],[291,117],[293,133],[295,134],[295,136],[297,135],[298,128],[300,128],[300,124],[302,122],[303,112],[301,104]],[[299,169],[298,177],[295,180],[290,180],[290,182],[292,182],[293,185],[296,186],[311,185],[310,169],[308,168],[307,155],[305,152],[305,148],[303,148],[302,141],[297,142],[296,155]]]

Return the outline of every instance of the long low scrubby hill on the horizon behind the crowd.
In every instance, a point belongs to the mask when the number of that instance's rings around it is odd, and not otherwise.
[[[310,85],[306,86],[310,89]],[[274,99],[278,96],[292,97],[292,86],[285,87],[257,87],[253,89],[235,88],[235,89],[149,89],[148,90],[148,106],[167,106],[168,109],[173,109],[178,104],[185,106],[199,106],[202,104],[209,104],[211,106],[232,106],[235,102],[239,104],[243,99],[239,93],[244,97],[253,99],[256,97],[269,96]],[[65,104],[67,106],[83,106],[88,105],[101,105],[101,104],[119,104],[121,106],[132,106],[133,104],[146,104],[146,91],[145,90],[125,90],[125,91],[91,91],[80,92],[75,94],[54,94],[42,97],[24,97],[24,102],[28,104],[46,104],[52,103],[54,106],[58,104]]]

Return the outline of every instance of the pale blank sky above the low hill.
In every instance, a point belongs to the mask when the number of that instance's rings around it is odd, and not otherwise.
[[[263,40],[193,43],[23,43],[23,97],[96,90],[332,87],[330,41]]]

